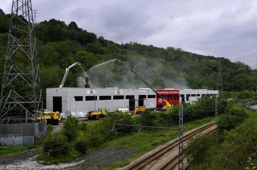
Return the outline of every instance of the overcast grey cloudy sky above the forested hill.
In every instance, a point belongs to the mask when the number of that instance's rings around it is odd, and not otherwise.
[[[11,6],[11,0],[0,2],[5,13]],[[256,68],[257,1],[32,0],[32,8],[37,22],[74,21],[119,44],[171,46]]]

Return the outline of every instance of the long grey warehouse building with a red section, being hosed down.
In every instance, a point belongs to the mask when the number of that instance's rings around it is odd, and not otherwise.
[[[205,94],[210,94],[213,98],[218,96],[217,90],[206,89],[157,89],[156,91],[172,104],[196,101]],[[47,88],[46,109],[61,113],[67,110],[87,112],[99,108],[106,108],[108,111],[115,111],[117,108],[134,110],[135,106],[157,108],[165,106],[165,102],[150,88]]]

